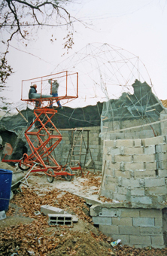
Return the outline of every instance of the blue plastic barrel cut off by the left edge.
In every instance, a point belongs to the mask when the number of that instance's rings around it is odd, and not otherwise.
[[[12,171],[0,169],[0,212],[7,211],[11,195]]]

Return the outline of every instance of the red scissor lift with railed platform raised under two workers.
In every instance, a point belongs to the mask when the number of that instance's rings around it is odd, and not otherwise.
[[[71,77],[72,79],[69,79]],[[44,83],[46,84],[48,79],[51,81],[58,81],[60,79],[61,81],[65,81],[65,95],[62,96],[62,92],[58,97],[52,97],[48,95],[45,97],[42,94],[42,86],[44,87]],[[71,178],[74,175],[72,173],[72,169],[81,170],[81,167],[60,166],[55,159],[56,157],[53,157],[54,149],[57,145],[59,145],[59,142],[62,141],[62,135],[59,133],[59,130],[56,128],[52,121],[53,116],[57,113],[57,109],[51,108],[50,105],[53,105],[54,102],[59,100],[69,102],[78,97],[78,73],[65,71],[56,73],[54,75],[47,75],[41,78],[26,80],[26,84],[29,82],[31,82],[31,84],[41,84],[41,95],[38,99],[24,99],[24,82],[25,81],[22,81],[21,100],[26,101],[33,106],[35,106],[36,102],[38,102],[38,107],[34,108],[35,118],[25,132],[26,140],[29,143],[29,148],[31,149],[32,153],[29,155],[23,154],[23,158],[20,160],[6,160],[5,154],[5,157],[2,161],[18,163],[18,166],[22,170],[30,169],[30,172],[44,172],[47,175],[47,181],[49,182],[53,182],[54,177],[57,175],[61,175],[67,181],[71,181]],[[70,83],[72,84],[73,89],[75,89],[74,95],[71,96],[68,95],[68,84]],[[46,87],[44,88],[46,89]]]

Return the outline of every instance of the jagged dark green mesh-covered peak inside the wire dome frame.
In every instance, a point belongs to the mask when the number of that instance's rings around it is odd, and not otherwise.
[[[146,82],[141,83],[138,80],[135,80],[132,87],[133,94],[123,93],[119,99],[104,102],[102,116],[111,118],[113,121],[149,117],[158,120],[164,108],[152,93],[151,87]],[[108,122],[107,119],[105,121]]]

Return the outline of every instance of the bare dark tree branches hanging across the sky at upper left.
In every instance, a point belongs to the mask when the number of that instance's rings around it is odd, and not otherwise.
[[[68,29],[68,35],[64,38],[65,43],[63,45],[67,52],[71,49],[74,44],[72,24],[74,21],[78,22],[76,18],[71,17],[66,8],[66,4],[72,1],[73,0],[1,1],[0,31],[3,32],[3,29],[5,29],[10,33],[10,37],[7,38],[5,42],[5,44],[7,44],[7,48],[4,53],[0,54],[0,80],[2,83],[4,83],[6,78],[8,78],[12,73],[11,66],[8,66],[6,56],[10,46],[9,42],[14,38],[14,35],[18,35],[18,38],[21,37],[24,41],[31,38],[31,34],[29,33],[30,28],[33,31],[35,27],[66,26],[66,29]],[[79,22],[81,21],[79,20]],[[84,24],[84,26],[86,25]],[[24,29],[25,27],[26,29]],[[2,78],[3,74],[4,78]]]

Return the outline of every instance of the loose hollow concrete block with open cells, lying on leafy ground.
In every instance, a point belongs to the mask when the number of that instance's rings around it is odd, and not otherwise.
[[[72,215],[70,214],[48,214],[49,225],[72,225]]]

